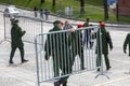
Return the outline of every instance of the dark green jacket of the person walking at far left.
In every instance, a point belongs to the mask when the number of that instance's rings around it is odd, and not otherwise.
[[[23,47],[24,43],[22,37],[25,34],[25,31],[22,31],[22,28],[17,24],[13,24],[11,28],[11,46],[12,47]]]

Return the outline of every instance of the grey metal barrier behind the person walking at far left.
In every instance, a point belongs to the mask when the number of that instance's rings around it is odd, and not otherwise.
[[[22,30],[26,31],[26,34],[23,38],[24,42],[34,43],[36,34],[43,32],[42,19],[29,16],[17,16],[16,19],[20,20],[20,27],[22,27]],[[11,39],[11,18],[4,17],[4,40]]]

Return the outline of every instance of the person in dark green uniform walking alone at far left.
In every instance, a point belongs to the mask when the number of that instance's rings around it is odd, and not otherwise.
[[[11,28],[11,47],[12,47],[12,49],[11,49],[11,54],[10,54],[9,63],[14,63],[13,56],[14,56],[16,48],[18,48],[21,52],[22,63],[28,61],[24,58],[24,43],[22,41],[22,37],[24,34],[25,34],[25,31],[22,31],[22,28],[18,26],[18,19],[14,20],[12,24],[12,28]]]

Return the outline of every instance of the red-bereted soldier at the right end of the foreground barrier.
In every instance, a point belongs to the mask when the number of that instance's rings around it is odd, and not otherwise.
[[[109,32],[105,29],[105,24],[100,23],[100,29],[96,34],[96,51],[95,53],[98,54],[96,57],[96,67],[101,66],[101,55],[104,55],[105,58],[105,64],[106,64],[106,70],[109,70],[112,67],[109,64],[109,59],[108,59],[108,45],[110,51],[113,49],[113,43],[112,39],[109,35]],[[100,71],[100,69],[98,69]]]

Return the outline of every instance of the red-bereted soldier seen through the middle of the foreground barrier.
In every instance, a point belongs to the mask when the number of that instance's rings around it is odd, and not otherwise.
[[[82,25],[78,24],[78,28],[81,28]],[[83,59],[83,42],[82,42],[82,32],[81,30],[76,30],[72,32],[72,52],[73,52],[73,62],[75,57],[79,55],[80,58],[80,69],[84,69],[84,59]]]

